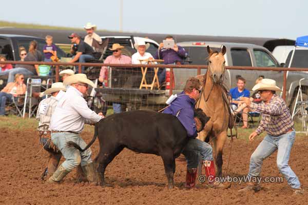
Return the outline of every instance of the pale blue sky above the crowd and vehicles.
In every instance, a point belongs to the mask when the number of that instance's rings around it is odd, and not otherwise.
[[[0,20],[119,31],[120,1],[3,1]],[[123,31],[295,39],[308,34],[307,8],[306,0],[123,0]]]

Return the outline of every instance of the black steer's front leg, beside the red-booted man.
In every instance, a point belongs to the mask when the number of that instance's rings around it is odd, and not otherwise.
[[[164,151],[161,154],[164,162],[165,173],[168,179],[168,188],[174,188],[174,174],[176,172],[176,160],[173,155],[173,151]]]

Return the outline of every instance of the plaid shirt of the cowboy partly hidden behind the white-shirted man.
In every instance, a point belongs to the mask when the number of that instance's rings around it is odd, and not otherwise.
[[[43,103],[49,105],[46,114],[40,113],[40,109]],[[57,104],[56,98],[51,96],[49,98],[43,99],[41,103],[38,105],[36,113],[36,119],[40,120],[40,122],[38,122],[38,127],[37,127],[38,131],[50,131],[49,129],[50,118],[56,107],[56,104]]]

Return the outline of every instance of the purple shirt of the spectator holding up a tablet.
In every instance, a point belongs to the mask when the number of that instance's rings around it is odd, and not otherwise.
[[[176,60],[182,60],[186,57],[185,49],[181,46],[178,46],[179,51],[176,52],[173,49],[165,49],[162,48],[158,51],[156,51],[156,54],[154,55],[155,59],[163,59],[164,64],[174,64]]]

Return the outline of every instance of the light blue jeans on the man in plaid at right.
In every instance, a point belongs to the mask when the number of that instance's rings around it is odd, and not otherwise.
[[[293,189],[299,189],[300,182],[298,177],[288,165],[288,160],[290,158],[294,141],[295,131],[288,132],[280,136],[272,136],[267,134],[251,156],[248,176],[259,176],[261,173],[263,160],[278,150],[277,167],[279,172],[286,178],[288,185],[290,185]]]

